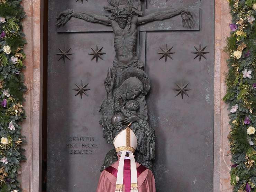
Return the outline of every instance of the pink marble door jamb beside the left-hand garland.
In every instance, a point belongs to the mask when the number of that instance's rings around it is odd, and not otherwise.
[[[27,119],[22,123],[22,135],[27,137],[27,161],[22,163],[21,187],[24,192],[41,191],[41,146],[42,146],[42,6],[40,0],[23,0],[27,18],[24,20],[26,69],[25,84],[28,88],[24,105]]]

